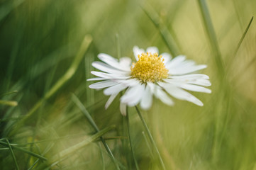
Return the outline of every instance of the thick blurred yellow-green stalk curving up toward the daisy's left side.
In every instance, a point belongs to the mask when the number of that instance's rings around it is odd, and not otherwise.
[[[28,120],[28,118],[30,118],[32,115],[34,115],[35,111],[37,111],[38,108],[40,108],[40,106],[46,100],[48,100],[48,98],[50,98],[53,94],[55,94],[56,91],[59,90],[74,75],[80,62],[82,61],[82,59],[84,57],[84,53],[87,51],[89,45],[91,44],[91,41],[92,41],[91,35],[85,35],[84,40],[82,41],[82,44],[79,48],[79,51],[77,52],[77,55],[74,58],[71,66],[69,67],[67,72],[57,81],[57,83],[54,86],[52,86],[52,88],[45,94],[45,96],[40,101],[38,101],[38,103],[35,103],[35,105],[28,112],[26,117],[22,118],[21,120],[19,120],[16,123],[16,126],[14,127],[13,130],[11,130],[11,132],[9,134],[10,136],[14,135],[16,133],[16,131],[19,128],[21,128],[23,123],[26,123],[26,120]]]

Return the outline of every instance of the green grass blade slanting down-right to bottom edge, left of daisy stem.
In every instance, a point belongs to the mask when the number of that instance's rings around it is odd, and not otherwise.
[[[81,103],[81,101],[79,101],[79,98],[77,98],[77,96],[75,96],[74,94],[72,94],[72,100],[74,101],[74,103],[77,105],[77,107],[82,111],[82,113],[84,113],[85,117],[87,118],[87,120],[89,121],[89,123],[91,124],[91,126],[94,128],[94,130],[96,130],[96,132],[99,132],[99,128],[96,125],[96,123],[94,122],[94,120],[91,118],[91,115],[89,114],[89,112],[87,111],[87,109],[84,107],[84,105]],[[115,159],[115,157],[113,157],[113,154],[111,152],[111,149],[108,147],[108,145],[106,144],[106,141],[104,140],[103,137],[100,137],[101,142],[103,143],[104,147],[106,148],[106,151],[108,152],[109,156],[111,157],[113,163],[116,165],[116,169],[119,169],[118,163]]]

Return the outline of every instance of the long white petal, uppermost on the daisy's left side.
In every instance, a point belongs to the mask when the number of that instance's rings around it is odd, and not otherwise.
[[[116,69],[120,69],[125,72],[130,72],[130,68],[122,67],[121,64],[116,60],[115,58],[111,57],[110,55],[100,53],[98,55],[99,60],[105,62],[106,64],[110,65],[111,67],[114,67]]]

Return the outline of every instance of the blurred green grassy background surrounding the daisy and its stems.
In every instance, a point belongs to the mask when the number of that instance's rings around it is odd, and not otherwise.
[[[135,169],[118,98],[105,110],[108,97],[87,82],[100,52],[133,59],[134,45],[208,65],[212,94],[192,93],[203,107],[154,100],[142,111],[166,169],[256,169],[255,9],[253,0],[1,0],[1,169],[116,169],[92,122],[119,168]],[[138,166],[161,169],[128,111]]]

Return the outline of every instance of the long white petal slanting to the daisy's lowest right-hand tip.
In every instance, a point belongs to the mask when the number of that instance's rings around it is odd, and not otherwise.
[[[168,92],[168,94],[170,94],[171,96],[174,96],[174,98],[178,98],[184,101],[190,101],[191,103],[194,103],[198,106],[204,105],[201,101],[199,101],[198,98],[189,94],[187,91],[179,89],[177,86],[173,86],[172,84],[166,84],[162,82],[159,82],[158,84],[162,86],[162,88],[164,88],[165,91]]]

